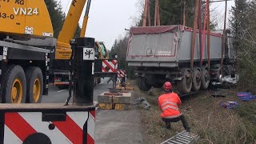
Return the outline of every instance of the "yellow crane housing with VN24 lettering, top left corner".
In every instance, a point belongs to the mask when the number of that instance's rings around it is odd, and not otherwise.
[[[0,1],[0,34],[53,37],[54,30],[44,0]]]

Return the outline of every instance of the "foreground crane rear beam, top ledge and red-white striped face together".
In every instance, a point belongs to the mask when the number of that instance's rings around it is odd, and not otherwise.
[[[0,144],[94,143],[95,105],[2,104]]]

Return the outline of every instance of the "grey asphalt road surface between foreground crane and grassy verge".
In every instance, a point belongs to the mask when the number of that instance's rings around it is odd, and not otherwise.
[[[94,87],[94,101],[98,95],[112,88],[112,82],[107,84],[109,78]],[[50,86],[48,96],[42,98],[43,103],[65,103],[68,90],[59,90]],[[72,98],[70,99],[70,103]],[[131,144],[143,143],[140,110],[132,106],[132,110],[97,110],[96,111],[95,143],[98,144]]]

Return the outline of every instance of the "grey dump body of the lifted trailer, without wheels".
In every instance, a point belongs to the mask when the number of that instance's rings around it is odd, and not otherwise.
[[[190,62],[192,34],[191,28],[178,25],[132,27],[126,61],[129,66],[178,67],[182,62]],[[200,51],[197,33],[194,62],[200,61]],[[207,34],[202,53],[203,61],[206,62],[208,58]],[[230,58],[234,57],[230,50],[228,54]],[[222,34],[212,32],[210,34],[210,60],[220,61],[221,58]]]

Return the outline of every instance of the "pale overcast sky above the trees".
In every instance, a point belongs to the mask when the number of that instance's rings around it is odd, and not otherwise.
[[[71,0],[59,1],[62,2],[62,9],[67,14]],[[129,29],[130,26],[134,25],[134,21],[139,17],[141,2],[143,1],[92,0],[86,37],[105,42],[107,49],[110,50],[114,44],[114,40],[122,38],[126,33],[125,29]],[[228,9],[231,10],[231,6],[233,5],[234,2],[228,2]],[[218,28],[221,29],[224,22],[225,2],[211,4],[210,9],[214,10],[211,18],[217,18]],[[82,14],[82,18],[84,13]],[[80,25],[82,25],[82,18],[80,18]]]

